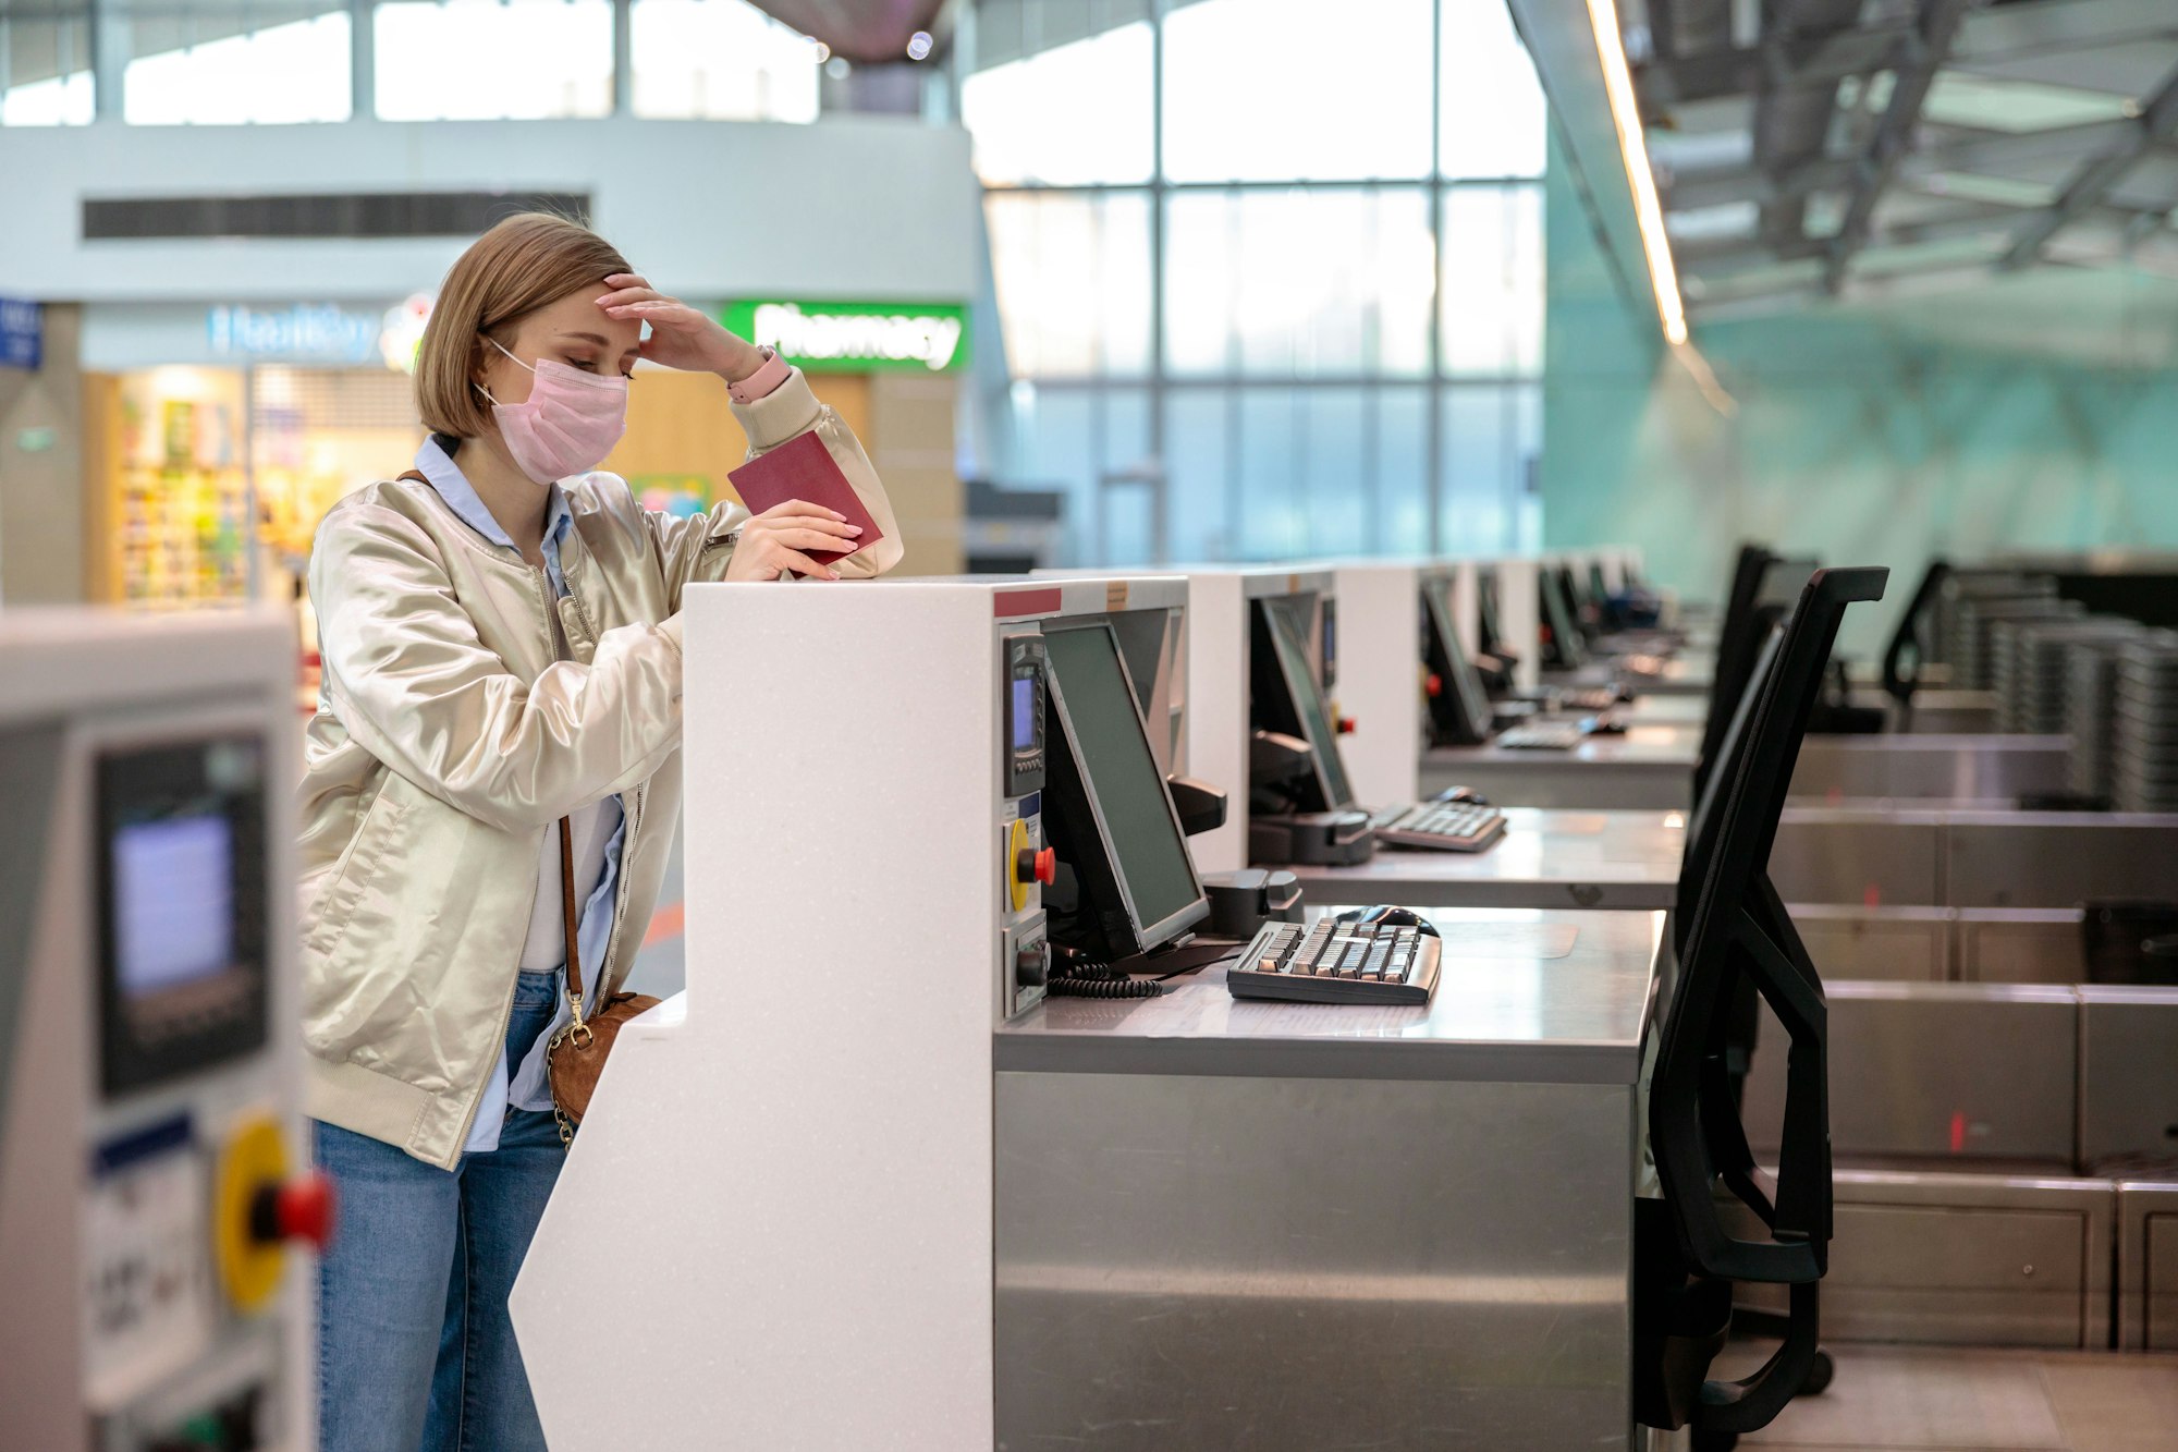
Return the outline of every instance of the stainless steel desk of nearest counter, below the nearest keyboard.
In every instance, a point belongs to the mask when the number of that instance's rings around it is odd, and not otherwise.
[[[1440,911],[1427,1009],[1215,972],[998,1031],[1004,1452],[1492,1452],[1629,1426],[1662,913]]]

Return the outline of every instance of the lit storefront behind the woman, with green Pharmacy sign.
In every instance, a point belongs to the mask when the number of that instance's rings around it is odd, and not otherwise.
[[[958,305],[730,303],[719,316],[802,364],[869,447],[906,569],[960,569]],[[298,600],[309,541],[346,493],[414,460],[429,299],[85,307],[91,597],[144,608]],[[640,368],[605,469],[658,510],[732,497],[747,438],[708,375]],[[307,621],[305,621],[307,634]]]

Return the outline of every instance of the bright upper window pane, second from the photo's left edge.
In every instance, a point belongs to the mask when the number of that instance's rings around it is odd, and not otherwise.
[[[338,122],[355,113],[346,0],[102,0],[126,17],[133,126]]]

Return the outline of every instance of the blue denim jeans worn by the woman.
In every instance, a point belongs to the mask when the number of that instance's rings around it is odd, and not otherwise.
[[[558,1003],[558,972],[518,977],[514,1062]],[[318,1269],[320,1452],[542,1452],[507,1293],[566,1158],[551,1112],[507,1110],[499,1149],[451,1171],[311,1129],[340,1193]]]

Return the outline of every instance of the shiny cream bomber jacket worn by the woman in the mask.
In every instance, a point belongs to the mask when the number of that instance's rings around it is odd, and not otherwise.
[[[799,368],[732,408],[751,458],[815,429],[869,508],[884,539],[843,576],[900,562],[884,486]],[[342,499],[309,560],[325,691],[298,794],[305,1110],[449,1169],[499,1062],[544,833],[605,794],[627,842],[605,961],[586,968],[605,992],[627,977],[680,818],[682,586],[725,576],[747,519],[653,515],[610,473],[564,488],[560,602],[416,482]]]

